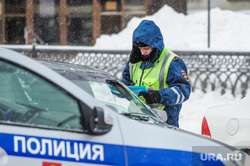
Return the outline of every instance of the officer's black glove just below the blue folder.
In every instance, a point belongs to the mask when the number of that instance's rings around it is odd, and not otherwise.
[[[147,92],[140,92],[138,96],[143,96],[146,99],[147,104],[153,103],[160,103],[161,102],[161,95],[159,91],[156,90],[149,90]]]

